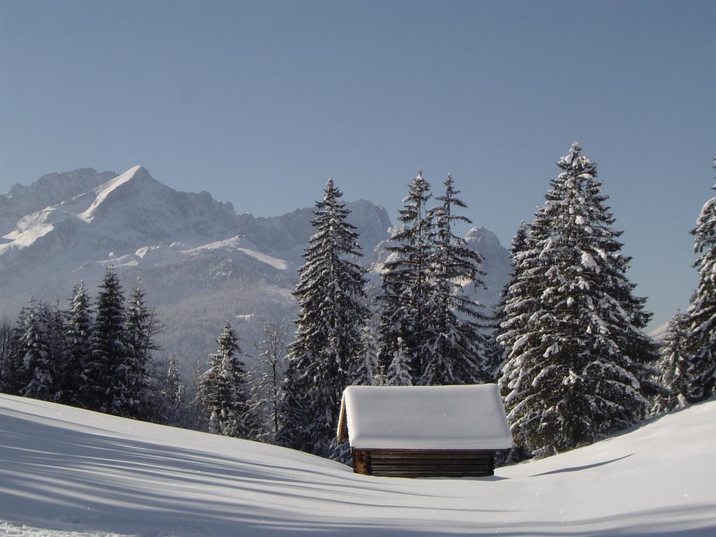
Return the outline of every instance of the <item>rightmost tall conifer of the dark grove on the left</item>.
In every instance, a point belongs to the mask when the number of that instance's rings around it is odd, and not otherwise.
[[[127,301],[125,319],[125,362],[117,369],[123,379],[122,393],[113,413],[151,420],[160,407],[160,382],[156,376],[152,351],[159,349],[154,342],[160,326],[153,311],[147,308],[142,280],[135,281]]]

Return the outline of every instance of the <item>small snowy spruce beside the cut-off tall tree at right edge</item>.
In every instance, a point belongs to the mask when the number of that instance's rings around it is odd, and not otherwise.
[[[687,316],[677,309],[662,341],[659,369],[662,371],[662,386],[668,391],[657,395],[652,414],[668,412],[688,404],[692,376],[691,363],[684,353],[686,321]]]

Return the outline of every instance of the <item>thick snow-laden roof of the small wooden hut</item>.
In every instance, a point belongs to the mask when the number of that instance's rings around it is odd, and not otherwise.
[[[361,449],[493,450],[512,447],[495,384],[349,386],[339,440]]]

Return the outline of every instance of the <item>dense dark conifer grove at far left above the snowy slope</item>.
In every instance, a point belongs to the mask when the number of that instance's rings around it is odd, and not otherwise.
[[[137,279],[127,301],[108,267],[97,299],[82,282],[67,309],[30,299],[0,327],[0,390],[107,412],[163,421],[163,379],[153,337],[160,326]]]

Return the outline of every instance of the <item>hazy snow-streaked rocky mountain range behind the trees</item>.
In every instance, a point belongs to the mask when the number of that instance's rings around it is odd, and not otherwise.
[[[379,261],[390,218],[367,200],[347,208],[370,266]],[[79,280],[94,294],[112,263],[126,291],[142,278],[164,326],[160,344],[188,372],[213,351],[223,321],[236,324],[251,352],[263,319],[294,318],[291,293],[313,216],[312,208],[236,215],[231,203],[178,192],[141,166],[121,175],[91,168],[45,175],[0,195],[0,315],[14,316],[30,296],[62,306]],[[491,306],[509,255],[484,228],[467,238],[488,272],[488,289],[475,298]]]

